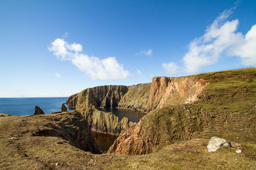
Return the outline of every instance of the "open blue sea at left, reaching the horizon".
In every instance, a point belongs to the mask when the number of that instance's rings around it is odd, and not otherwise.
[[[68,97],[0,98],[0,113],[16,116],[34,115],[35,106],[39,106],[45,114],[51,114],[59,112],[61,104],[67,99]],[[73,109],[68,108],[68,111],[71,110]]]

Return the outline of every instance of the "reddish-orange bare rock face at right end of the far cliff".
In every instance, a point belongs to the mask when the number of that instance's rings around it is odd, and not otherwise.
[[[155,77],[152,79],[146,111],[164,106],[190,104],[199,99],[207,82],[196,77]]]

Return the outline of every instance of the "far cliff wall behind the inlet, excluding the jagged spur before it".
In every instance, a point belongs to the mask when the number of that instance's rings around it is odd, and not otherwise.
[[[194,103],[208,84],[209,82],[195,76],[155,77],[151,83],[134,86],[88,88],[70,96],[67,103],[77,101],[76,109],[81,113],[90,104],[96,108],[119,107],[149,113],[164,106]]]

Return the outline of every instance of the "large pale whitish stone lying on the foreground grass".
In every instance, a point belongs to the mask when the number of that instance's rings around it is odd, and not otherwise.
[[[214,152],[220,149],[221,146],[231,147],[231,143],[225,139],[212,137],[207,145],[207,149],[209,152]]]

